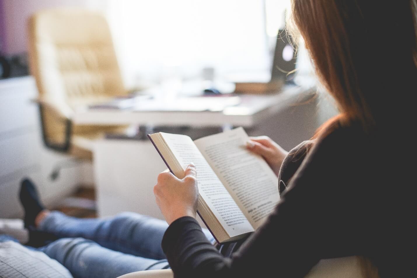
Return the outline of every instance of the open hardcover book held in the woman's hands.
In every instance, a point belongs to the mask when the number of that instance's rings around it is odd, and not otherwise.
[[[246,149],[243,128],[197,139],[163,132],[148,135],[179,179],[196,165],[197,212],[218,243],[254,232],[279,201],[278,178],[265,160]]]

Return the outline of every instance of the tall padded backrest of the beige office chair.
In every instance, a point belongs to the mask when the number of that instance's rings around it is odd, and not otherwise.
[[[77,98],[126,94],[110,29],[100,13],[52,9],[29,23],[30,60],[39,93],[71,104]]]

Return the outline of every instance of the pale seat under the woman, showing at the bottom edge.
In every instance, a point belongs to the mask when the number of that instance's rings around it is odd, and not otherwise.
[[[365,278],[361,259],[357,256],[320,260],[305,278]],[[128,273],[119,278],[173,278],[171,269]]]

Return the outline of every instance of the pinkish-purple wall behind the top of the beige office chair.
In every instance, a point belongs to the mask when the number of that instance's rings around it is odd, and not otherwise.
[[[38,10],[87,6],[88,0],[0,0],[1,52],[16,54],[27,49],[27,21]]]

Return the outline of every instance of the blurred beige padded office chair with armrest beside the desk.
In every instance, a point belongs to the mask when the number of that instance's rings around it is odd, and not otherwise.
[[[35,13],[29,21],[29,56],[47,147],[91,159],[92,139],[124,131],[125,126],[80,126],[71,121],[80,104],[128,94],[103,15],[75,8]]]

